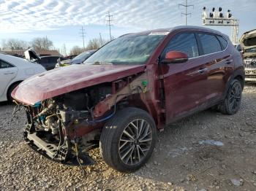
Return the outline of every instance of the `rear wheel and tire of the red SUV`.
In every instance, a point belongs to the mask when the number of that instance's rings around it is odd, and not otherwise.
[[[219,111],[222,114],[236,114],[241,105],[242,85],[238,79],[233,79],[227,91],[227,95],[222,104],[219,105]]]

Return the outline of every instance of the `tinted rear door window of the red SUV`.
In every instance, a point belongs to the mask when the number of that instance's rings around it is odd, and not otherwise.
[[[215,35],[211,34],[198,34],[205,55],[214,52],[222,51],[222,47],[219,44],[219,40]]]

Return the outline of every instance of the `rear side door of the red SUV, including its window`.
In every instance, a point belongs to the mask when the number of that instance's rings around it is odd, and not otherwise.
[[[205,102],[217,102],[225,92],[227,79],[233,71],[233,61],[230,52],[225,51],[227,42],[221,44],[225,40],[221,36],[206,33],[197,33],[197,36],[202,47],[201,59],[208,72]]]

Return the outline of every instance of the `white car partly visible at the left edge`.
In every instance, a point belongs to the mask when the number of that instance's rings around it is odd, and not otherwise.
[[[46,71],[45,68],[38,63],[0,54],[0,101],[12,100],[12,90],[20,82],[43,71]]]

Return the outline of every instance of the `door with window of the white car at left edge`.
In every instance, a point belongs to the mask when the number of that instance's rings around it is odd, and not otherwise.
[[[16,77],[17,72],[17,67],[0,59],[0,97],[4,95],[6,88]]]

